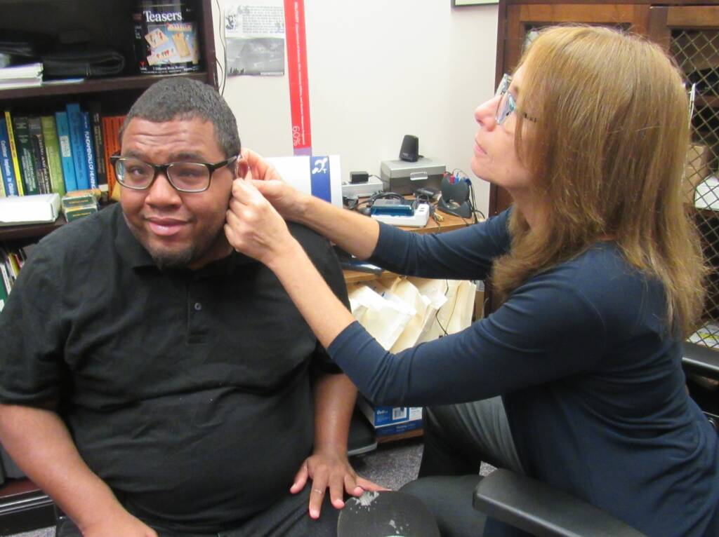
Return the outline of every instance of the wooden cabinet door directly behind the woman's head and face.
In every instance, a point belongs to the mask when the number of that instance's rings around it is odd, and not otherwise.
[[[503,73],[514,70],[531,32],[552,24],[580,22],[631,29],[647,33],[649,5],[546,3],[518,4],[511,1],[500,6],[500,28],[497,55],[497,80]],[[505,210],[511,198],[504,189],[490,187],[490,215]]]

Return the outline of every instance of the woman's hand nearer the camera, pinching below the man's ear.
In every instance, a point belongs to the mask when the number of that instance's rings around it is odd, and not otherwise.
[[[225,236],[237,251],[270,266],[283,253],[299,246],[287,224],[252,182],[234,179],[224,226]]]

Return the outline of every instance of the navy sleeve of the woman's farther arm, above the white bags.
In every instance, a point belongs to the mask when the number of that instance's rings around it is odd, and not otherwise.
[[[509,210],[448,233],[413,233],[380,224],[371,263],[425,278],[484,279],[493,259],[508,251]]]

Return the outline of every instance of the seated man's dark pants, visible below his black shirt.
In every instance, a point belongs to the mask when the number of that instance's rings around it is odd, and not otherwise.
[[[237,528],[216,533],[193,533],[192,531],[169,531],[161,526],[147,523],[159,537],[335,537],[339,511],[325,495],[319,520],[309,516],[311,483],[296,495],[288,494],[262,513],[244,520]],[[56,537],[82,537],[72,520],[64,518],[58,523]]]

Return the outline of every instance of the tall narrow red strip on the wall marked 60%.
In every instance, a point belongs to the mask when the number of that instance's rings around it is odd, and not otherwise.
[[[287,64],[292,112],[292,147],[296,155],[312,154],[310,94],[307,83],[307,44],[304,0],[285,0]]]

